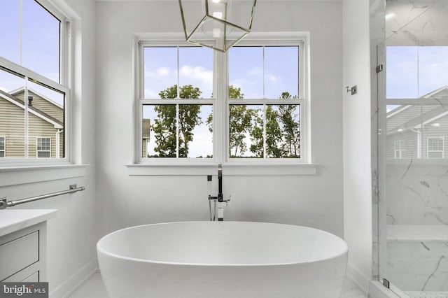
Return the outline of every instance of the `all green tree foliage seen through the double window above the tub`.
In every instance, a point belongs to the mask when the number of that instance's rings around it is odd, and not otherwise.
[[[162,90],[162,99],[178,97],[177,85]],[[181,99],[200,98],[202,92],[192,85],[181,86]],[[243,99],[240,87],[229,86],[230,99]],[[288,92],[281,99],[295,99]],[[231,157],[300,157],[300,120],[297,119],[297,104],[268,104],[263,108],[246,104],[229,105],[229,150]],[[179,157],[188,157],[188,144],[193,141],[193,129],[202,123],[201,105],[160,104],[155,106],[158,118],[151,126],[155,133],[154,148],[158,157],[176,157],[176,143],[179,142]],[[176,112],[179,122],[176,123]],[[213,111],[207,117],[207,127],[213,132]],[[176,127],[179,140],[176,140]],[[248,141],[250,139],[250,141]],[[248,146],[250,144],[250,146]],[[248,148],[249,147],[249,148]],[[266,155],[266,156],[265,156]]]

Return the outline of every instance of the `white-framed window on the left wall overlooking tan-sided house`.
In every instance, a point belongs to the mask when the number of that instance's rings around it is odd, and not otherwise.
[[[5,162],[46,157],[35,141],[42,134],[54,136],[54,156],[64,162],[69,22],[47,0],[0,1],[0,28],[7,28],[0,29],[0,135],[10,144]]]

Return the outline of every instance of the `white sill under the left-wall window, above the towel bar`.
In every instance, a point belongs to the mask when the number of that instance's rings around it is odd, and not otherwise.
[[[88,164],[0,167],[0,187],[85,176]]]

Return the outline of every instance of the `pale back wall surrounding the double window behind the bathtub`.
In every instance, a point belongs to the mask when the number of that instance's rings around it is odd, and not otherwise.
[[[207,220],[206,176],[129,176],[134,33],[181,33],[177,1],[97,2],[97,196],[102,234],[151,222]],[[307,225],[343,236],[342,3],[260,1],[253,31],[309,31],[315,176],[225,176],[226,220]],[[223,170],[225,173],[225,168]]]

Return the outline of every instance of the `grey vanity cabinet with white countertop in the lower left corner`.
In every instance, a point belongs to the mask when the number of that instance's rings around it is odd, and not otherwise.
[[[14,212],[15,215],[36,215],[28,210],[12,211],[25,211],[23,214]],[[55,211],[38,218],[24,216],[22,221],[15,218],[15,222],[6,222],[7,212],[10,211],[0,211],[0,281],[47,281],[46,220],[55,215]],[[15,223],[15,227],[11,223]]]

